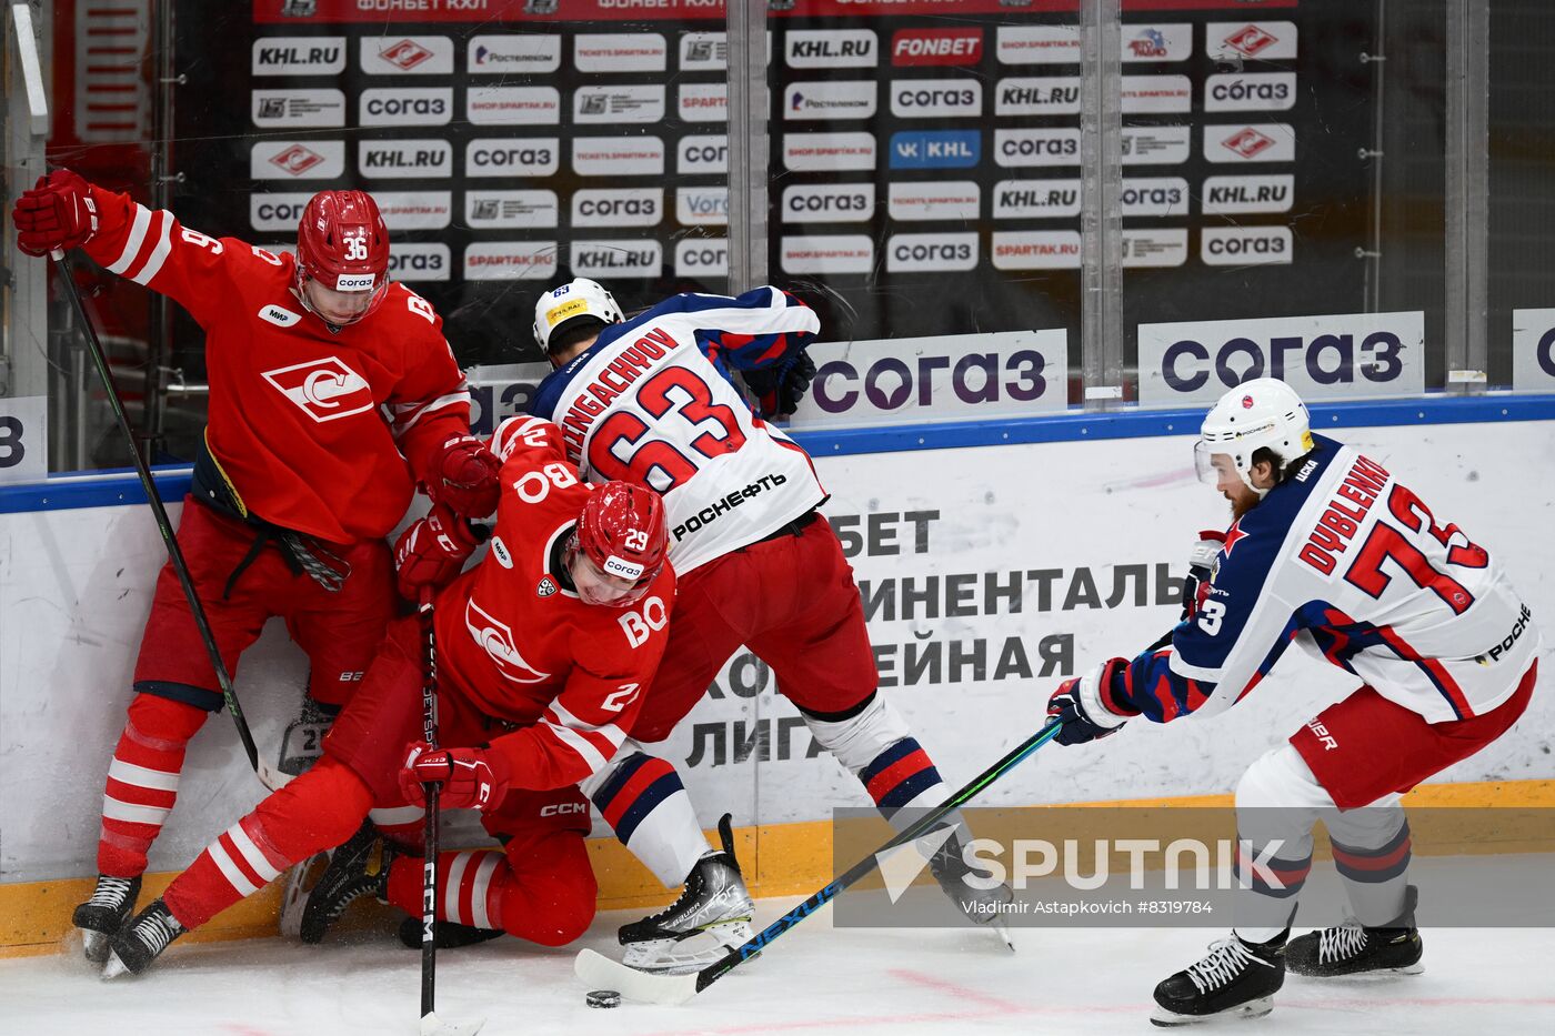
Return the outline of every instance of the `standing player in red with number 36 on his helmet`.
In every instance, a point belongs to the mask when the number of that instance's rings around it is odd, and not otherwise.
[[[295,257],[208,238],[68,170],[37,180],[11,219],[28,255],[79,246],[205,330],[208,425],[177,541],[227,672],[281,616],[311,664],[305,716],[328,722],[393,618],[384,537],[417,482],[474,518],[498,496],[498,462],[470,436],[470,392],[442,319],[389,280],[376,202],[314,194]],[[96,888],[75,913],[93,961],[135,908],[188,742],[224,708],[171,563],[134,680],[107,768]]]

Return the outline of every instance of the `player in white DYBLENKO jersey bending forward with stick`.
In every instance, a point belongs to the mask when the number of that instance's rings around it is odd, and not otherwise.
[[[1232,526],[1202,534],[1169,642],[1110,658],[1053,694],[1059,744],[1113,734],[1135,716],[1227,709],[1292,639],[1362,686],[1242,775],[1238,840],[1252,860],[1272,859],[1249,866],[1238,854],[1235,930],[1155,986],[1157,1025],[1267,1014],[1288,968],[1418,972],[1400,795],[1516,722],[1539,647],[1494,558],[1455,524],[1438,524],[1382,465],[1311,434],[1306,406],[1283,381],[1258,378],[1221,397],[1194,459],[1232,502]],[[1317,820],[1354,916],[1288,943]]]

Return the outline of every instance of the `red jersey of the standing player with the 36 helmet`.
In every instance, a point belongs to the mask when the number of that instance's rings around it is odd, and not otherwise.
[[[395,283],[331,333],[292,291],[289,252],[208,238],[128,194],[92,196],[87,254],[205,328],[205,442],[241,504],[333,543],[387,535],[431,453],[470,431],[470,392],[432,305]]]

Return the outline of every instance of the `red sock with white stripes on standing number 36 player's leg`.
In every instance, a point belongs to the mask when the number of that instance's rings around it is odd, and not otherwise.
[[[135,877],[179,795],[183,751],[210,716],[193,705],[137,694],[103,790],[98,873]]]

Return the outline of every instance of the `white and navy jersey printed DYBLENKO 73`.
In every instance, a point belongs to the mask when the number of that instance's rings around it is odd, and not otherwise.
[[[1197,614],[1107,692],[1146,717],[1218,712],[1300,635],[1426,722],[1480,716],[1539,649],[1501,565],[1379,464],[1312,436],[1286,482],[1232,524]]]

